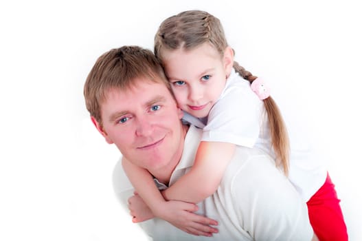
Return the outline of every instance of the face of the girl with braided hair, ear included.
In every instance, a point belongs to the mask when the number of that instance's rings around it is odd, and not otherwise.
[[[230,74],[231,48],[220,56],[212,45],[203,43],[193,50],[164,50],[162,56],[179,107],[197,118],[206,117]]]

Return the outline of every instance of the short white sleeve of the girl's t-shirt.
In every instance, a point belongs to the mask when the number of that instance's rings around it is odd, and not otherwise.
[[[212,107],[203,128],[204,141],[253,147],[258,140],[264,104],[251,91],[249,83],[239,81],[228,87]]]

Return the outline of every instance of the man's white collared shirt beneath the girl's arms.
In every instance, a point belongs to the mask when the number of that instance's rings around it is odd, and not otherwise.
[[[194,162],[202,130],[191,126],[179,165],[174,169],[170,185],[187,173]],[[115,171],[115,192],[127,207],[133,194],[122,166]],[[125,187],[128,185],[128,188]],[[140,223],[153,240],[311,240],[306,203],[291,182],[275,168],[268,154],[258,148],[237,147],[217,191],[198,204],[198,213],[218,220],[219,233],[212,238],[195,236],[154,218]]]

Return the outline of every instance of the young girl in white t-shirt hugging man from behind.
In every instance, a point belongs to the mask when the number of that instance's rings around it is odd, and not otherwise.
[[[151,184],[148,171],[123,160],[136,196],[154,216],[189,233],[199,234],[198,229],[201,233],[212,232],[190,221],[185,213],[175,214],[185,211],[181,205],[164,209],[166,200],[197,203],[207,198],[216,191],[236,145],[258,147],[273,156],[275,164],[308,201],[310,223],[319,240],[348,240],[327,171],[308,151],[294,151],[293,142],[289,152],[286,127],[269,89],[262,79],[234,61],[234,50],[227,44],[216,17],[194,10],[166,19],[155,36],[155,55],[163,63],[177,103],[185,112],[184,120],[203,128],[203,138],[190,172],[162,195]],[[130,209],[133,222],[152,218],[137,204],[131,203]]]

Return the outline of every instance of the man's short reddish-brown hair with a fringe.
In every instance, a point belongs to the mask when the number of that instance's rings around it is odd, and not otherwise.
[[[172,93],[161,63],[152,51],[138,46],[123,46],[102,54],[84,83],[85,104],[91,116],[102,125],[100,107],[106,101],[106,93],[111,89],[134,87],[139,78],[164,83]]]

